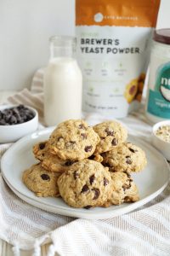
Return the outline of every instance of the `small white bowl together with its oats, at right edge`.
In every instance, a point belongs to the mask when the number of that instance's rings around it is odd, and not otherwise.
[[[152,144],[170,161],[170,120],[161,121],[153,126]]]

